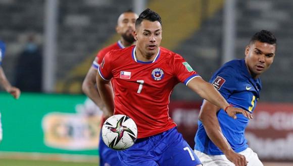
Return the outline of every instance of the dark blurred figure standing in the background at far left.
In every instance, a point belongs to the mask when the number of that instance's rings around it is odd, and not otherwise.
[[[42,87],[42,48],[35,34],[27,36],[24,49],[17,57],[15,82],[23,92],[41,92]]]

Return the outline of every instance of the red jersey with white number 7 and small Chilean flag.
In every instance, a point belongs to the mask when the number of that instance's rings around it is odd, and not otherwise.
[[[138,138],[162,133],[176,126],[169,117],[169,98],[176,84],[199,76],[179,55],[160,47],[155,59],[136,59],[135,46],[106,54],[99,73],[114,84],[114,114],[132,118]]]

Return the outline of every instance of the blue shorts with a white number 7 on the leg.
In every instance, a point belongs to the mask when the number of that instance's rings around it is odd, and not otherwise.
[[[118,151],[121,165],[198,165],[200,159],[178,133],[176,127],[163,133],[137,139],[128,149]]]

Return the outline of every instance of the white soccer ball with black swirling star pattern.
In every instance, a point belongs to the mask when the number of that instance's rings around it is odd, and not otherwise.
[[[103,124],[102,139],[112,149],[127,149],[134,144],[136,138],[136,124],[126,115],[113,115]]]

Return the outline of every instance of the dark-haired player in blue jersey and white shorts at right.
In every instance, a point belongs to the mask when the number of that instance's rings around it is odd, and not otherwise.
[[[245,49],[245,59],[227,62],[210,82],[228,103],[253,113],[262,89],[259,76],[273,63],[275,51],[275,36],[266,30],[257,32]],[[204,165],[263,165],[245,138],[249,119],[229,115],[229,110],[204,100],[194,138],[200,160]]]

